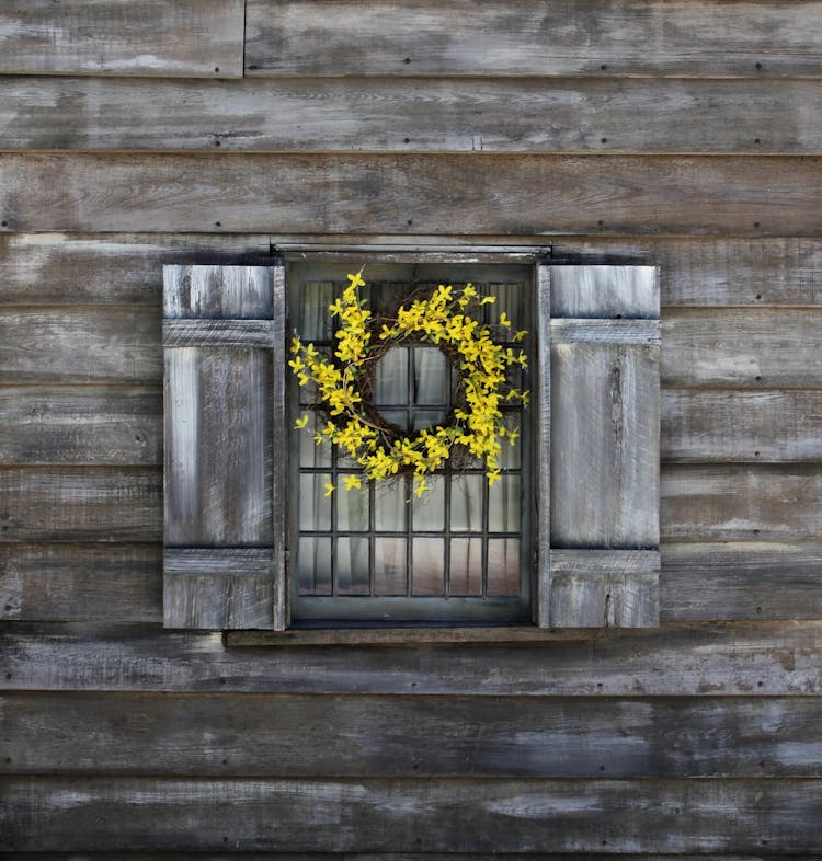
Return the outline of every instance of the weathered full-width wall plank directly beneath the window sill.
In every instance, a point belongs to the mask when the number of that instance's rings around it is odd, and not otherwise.
[[[667,622],[539,643],[227,647],[144,624],[0,625],[0,689],[483,697],[819,696],[822,621]],[[489,667],[493,671],[489,673]]]

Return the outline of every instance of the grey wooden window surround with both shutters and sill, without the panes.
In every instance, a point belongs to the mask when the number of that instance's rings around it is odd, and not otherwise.
[[[287,436],[285,266],[309,257],[534,266],[534,409],[541,433],[535,452],[533,625],[288,630],[286,494],[276,491],[288,486],[281,456]],[[165,266],[163,346],[167,628],[228,631],[228,642],[248,645],[529,641],[551,629],[659,624],[654,267],[551,265],[536,250],[361,249],[293,250],[264,267]],[[249,363],[239,375],[232,371],[238,356]],[[232,409],[241,420],[226,404],[214,417],[226,380],[233,386],[240,379]],[[267,416],[254,417],[261,409]],[[233,452],[233,461],[205,454],[221,447]],[[250,463],[262,467],[255,473],[262,484],[252,481],[251,491],[244,478],[229,474]]]

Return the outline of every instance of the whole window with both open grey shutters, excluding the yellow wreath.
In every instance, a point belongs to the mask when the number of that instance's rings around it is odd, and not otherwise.
[[[167,627],[658,623],[655,271],[411,256],[295,260],[287,285],[283,265],[165,267]],[[463,279],[525,314],[534,404],[510,416],[523,445],[493,489],[469,466],[419,503],[402,482],[321,492],[347,464],[292,431],[286,307],[306,337],[329,338],[323,306],[362,262],[377,303]],[[436,421],[453,386],[442,354],[392,354],[378,409],[409,427]]]

